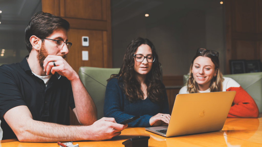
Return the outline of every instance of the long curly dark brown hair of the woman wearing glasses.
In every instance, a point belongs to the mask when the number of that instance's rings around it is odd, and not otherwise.
[[[148,87],[147,95],[152,102],[161,103],[161,100],[163,99],[161,95],[163,94],[163,90],[164,90],[164,88],[161,87],[162,86],[161,72],[160,72],[161,64],[159,63],[155,46],[148,39],[138,37],[132,40],[132,42],[128,45],[127,50],[125,52],[124,61],[120,68],[119,73],[111,75],[108,81],[112,78],[117,78],[119,81],[118,82],[119,86],[123,88],[123,91],[130,102],[135,102],[138,99],[144,99],[144,93],[141,90],[141,83],[135,77],[135,70],[134,70],[134,65],[135,65],[134,54],[137,51],[137,48],[142,44],[147,44],[151,48],[152,55],[155,56],[155,61],[152,63],[152,69],[146,75],[145,82],[146,82],[146,86]],[[122,86],[120,82],[122,83]]]

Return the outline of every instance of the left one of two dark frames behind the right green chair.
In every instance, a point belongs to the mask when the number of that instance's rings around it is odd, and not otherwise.
[[[230,74],[246,73],[245,60],[229,60]]]

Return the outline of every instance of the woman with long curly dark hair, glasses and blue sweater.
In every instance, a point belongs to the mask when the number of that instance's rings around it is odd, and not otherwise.
[[[116,122],[139,115],[130,127],[160,126],[169,123],[169,107],[161,80],[160,63],[154,45],[141,37],[128,45],[118,74],[108,79],[104,116]]]

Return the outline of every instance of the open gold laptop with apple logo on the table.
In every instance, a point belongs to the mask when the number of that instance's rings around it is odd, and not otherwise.
[[[219,131],[235,95],[236,91],[178,94],[169,125],[145,129],[165,137]]]

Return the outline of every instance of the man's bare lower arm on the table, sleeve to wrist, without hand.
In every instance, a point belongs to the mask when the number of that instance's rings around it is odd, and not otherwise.
[[[95,129],[92,126],[65,126],[33,120],[25,105],[8,110],[3,118],[21,142],[91,140]]]

